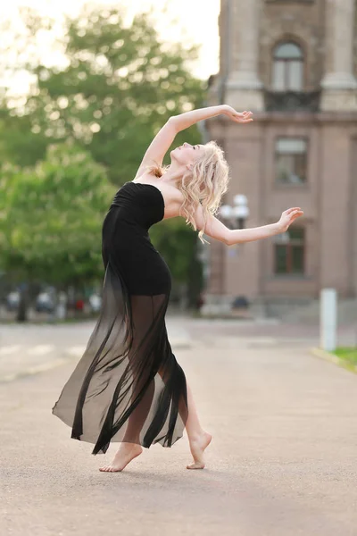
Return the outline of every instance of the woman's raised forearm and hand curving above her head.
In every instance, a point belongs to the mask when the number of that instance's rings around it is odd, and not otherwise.
[[[198,108],[191,112],[179,113],[179,115],[172,115],[170,121],[176,126],[178,132],[188,129],[191,125],[194,125],[198,121],[203,119],[209,119],[216,115],[228,115],[229,119],[240,123],[253,121],[252,112],[236,112],[234,108],[228,105],[208,106],[207,108]]]

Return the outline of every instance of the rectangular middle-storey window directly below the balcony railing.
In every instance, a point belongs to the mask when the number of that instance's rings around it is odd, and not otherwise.
[[[275,180],[278,184],[306,182],[306,139],[278,138],[275,146],[275,170]]]

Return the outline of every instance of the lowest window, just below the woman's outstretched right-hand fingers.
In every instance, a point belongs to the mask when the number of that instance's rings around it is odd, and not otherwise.
[[[286,232],[275,237],[276,274],[303,274],[305,264],[305,230],[290,227]]]

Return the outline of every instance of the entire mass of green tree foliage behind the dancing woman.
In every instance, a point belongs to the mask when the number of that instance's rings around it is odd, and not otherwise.
[[[128,26],[124,14],[85,7],[78,18],[68,18],[62,38],[66,65],[49,67],[32,56],[27,63],[19,59],[51,26],[33,10],[22,10],[28,46],[19,39],[12,52],[18,42],[16,63],[35,82],[17,108],[6,95],[0,106],[0,158],[9,163],[0,179],[8,207],[2,214],[9,217],[1,222],[0,263],[13,277],[95,277],[100,222],[110,198],[106,176],[116,188],[132,180],[170,115],[203,103],[205,83],[187,68],[197,47],[162,43],[149,15],[138,14]],[[196,126],[180,132],[174,145],[185,140],[201,142]],[[180,218],[162,222],[151,234],[174,280],[187,279],[193,230]]]

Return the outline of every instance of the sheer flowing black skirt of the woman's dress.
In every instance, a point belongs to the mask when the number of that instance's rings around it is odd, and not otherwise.
[[[111,251],[104,246],[95,329],[52,412],[71,426],[72,439],[95,444],[92,454],[105,453],[111,440],[171,447],[187,422],[187,383],[166,331],[170,288],[133,293],[128,266]]]

